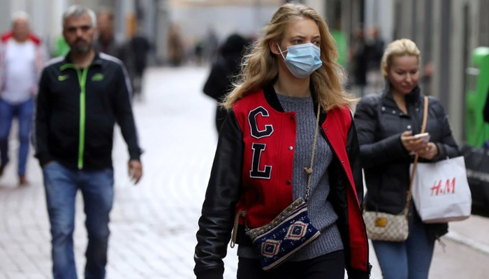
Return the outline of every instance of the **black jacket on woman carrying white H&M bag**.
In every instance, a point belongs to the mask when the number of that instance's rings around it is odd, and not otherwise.
[[[360,160],[365,172],[367,210],[400,213],[406,204],[409,189],[409,155],[400,140],[401,134],[411,130],[420,133],[423,122],[424,96],[416,87],[406,98],[408,114],[397,107],[388,87],[382,92],[366,96],[356,107],[355,123],[360,143]],[[439,100],[429,97],[426,132],[430,142],[438,147],[438,156],[431,160],[444,160],[460,156],[453,139],[448,116]],[[429,162],[420,158],[420,163]],[[413,209],[414,206],[411,206]],[[413,210],[416,214],[416,211]],[[411,212],[412,213],[412,212]],[[413,214],[411,214],[413,216]],[[448,225],[427,225],[433,239],[448,232]]]

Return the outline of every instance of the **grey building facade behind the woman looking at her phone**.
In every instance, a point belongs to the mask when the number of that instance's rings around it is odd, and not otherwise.
[[[414,40],[421,71],[432,66],[429,91],[441,100],[458,142],[465,140],[465,96],[472,51],[489,47],[489,0],[365,0],[365,22],[379,26],[386,43]]]

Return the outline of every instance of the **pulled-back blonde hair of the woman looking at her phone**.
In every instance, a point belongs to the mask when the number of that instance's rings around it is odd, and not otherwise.
[[[395,56],[416,56],[418,59],[418,64],[421,59],[420,51],[412,40],[409,39],[400,39],[395,40],[392,43],[388,44],[386,50],[384,51],[384,55],[382,56],[382,62],[380,66],[380,70],[382,71],[382,75],[384,78],[388,77],[388,69],[392,66],[392,61]]]

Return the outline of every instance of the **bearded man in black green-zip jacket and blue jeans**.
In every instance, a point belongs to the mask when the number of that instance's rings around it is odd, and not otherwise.
[[[54,279],[76,278],[73,255],[75,195],[81,190],[88,232],[85,278],[105,278],[109,213],[113,201],[115,121],[129,146],[129,174],[142,176],[141,149],[122,62],[94,50],[95,14],[71,6],[63,16],[71,47],[41,75],[34,146],[43,168],[52,234]]]

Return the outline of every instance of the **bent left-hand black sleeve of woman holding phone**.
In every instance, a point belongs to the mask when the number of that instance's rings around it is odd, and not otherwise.
[[[360,158],[362,167],[377,168],[382,165],[410,161],[409,153],[404,149],[401,142],[401,134],[377,140],[375,137],[379,118],[377,106],[372,98],[363,98],[358,103],[355,112],[355,125],[358,132],[358,143],[360,144]]]

